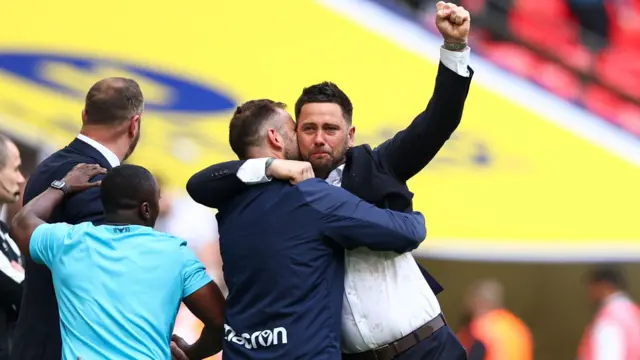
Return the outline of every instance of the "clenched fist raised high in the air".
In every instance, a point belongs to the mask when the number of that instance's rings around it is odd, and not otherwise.
[[[436,4],[436,26],[444,41],[452,44],[467,42],[471,17],[462,6],[439,1]]]

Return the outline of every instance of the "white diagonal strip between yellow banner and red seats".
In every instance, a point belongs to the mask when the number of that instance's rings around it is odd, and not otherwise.
[[[438,62],[442,40],[417,23],[366,0],[316,0],[406,50]],[[640,167],[640,141],[588,111],[474,55],[474,82]],[[517,119],[513,119],[517,121]],[[544,139],[540,139],[544,142]]]

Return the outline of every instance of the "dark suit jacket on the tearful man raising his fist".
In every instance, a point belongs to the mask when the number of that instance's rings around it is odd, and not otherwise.
[[[413,193],[406,183],[436,156],[460,124],[473,77],[471,68],[469,72],[469,77],[460,76],[440,63],[427,108],[406,129],[376,149],[365,144],[347,151],[342,187],[380,208],[411,211]],[[189,195],[202,205],[219,208],[249,188],[236,176],[243,163],[229,161],[200,171],[187,183]],[[442,292],[440,283],[418,267],[433,292]]]

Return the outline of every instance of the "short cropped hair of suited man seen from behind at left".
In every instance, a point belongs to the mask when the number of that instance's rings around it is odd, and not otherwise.
[[[85,99],[87,123],[95,125],[119,124],[144,109],[140,86],[133,79],[106,78],[95,83]]]

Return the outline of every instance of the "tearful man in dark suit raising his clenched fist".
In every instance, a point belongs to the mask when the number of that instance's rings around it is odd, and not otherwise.
[[[391,139],[375,149],[354,146],[353,106],[335,84],[305,88],[296,102],[302,159],[312,164],[316,176],[380,208],[412,210],[407,181],[436,156],[462,117],[473,75],[467,65],[469,13],[443,2],[437,10],[444,44],[433,96],[426,109]],[[283,169],[290,163],[266,161],[213,165],[194,175],[187,190],[195,201],[216,208],[271,176],[297,181],[305,166]],[[442,287],[426,270],[421,273],[411,254],[355,249],[347,252],[345,261],[345,360],[466,358],[441,314],[435,295]]]

